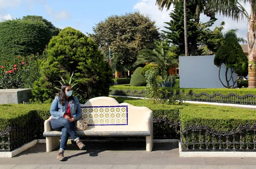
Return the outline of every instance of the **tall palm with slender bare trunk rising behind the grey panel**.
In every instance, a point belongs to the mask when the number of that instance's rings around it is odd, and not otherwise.
[[[164,7],[167,8],[167,11],[170,9],[170,6],[173,2],[178,0],[156,0],[156,5],[158,9],[163,10]],[[183,1],[183,8],[184,8],[184,44],[185,44],[185,56],[188,56],[189,49],[188,49],[188,32],[187,32],[187,23],[186,23],[186,0]]]

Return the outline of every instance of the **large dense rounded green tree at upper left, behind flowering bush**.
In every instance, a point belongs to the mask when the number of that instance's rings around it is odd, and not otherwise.
[[[42,17],[28,18],[0,22],[0,63],[10,61],[15,55],[42,54],[52,35],[57,34],[52,33],[53,29]]]

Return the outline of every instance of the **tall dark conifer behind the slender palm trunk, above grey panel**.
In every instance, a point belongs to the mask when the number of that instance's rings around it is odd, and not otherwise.
[[[178,46],[180,51],[179,55],[184,54],[184,28],[183,28],[183,5],[182,2],[177,1],[175,3],[175,9],[169,15],[171,17],[170,22],[166,23],[168,26],[165,26],[167,31],[163,31],[165,33],[164,37],[166,37],[170,43],[175,46]],[[196,5],[194,2],[187,4],[187,25],[188,25],[188,32],[187,35],[188,39],[188,49],[189,54],[195,55],[198,46],[202,43],[202,41],[208,35],[208,27],[212,26],[215,22],[216,18],[211,17],[207,23],[198,23],[195,21],[195,14],[196,14]]]

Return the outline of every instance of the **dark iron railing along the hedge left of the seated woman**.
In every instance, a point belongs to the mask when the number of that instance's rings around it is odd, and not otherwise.
[[[0,131],[0,152],[10,152],[36,138],[42,138],[44,120],[32,119],[26,126],[8,126]]]

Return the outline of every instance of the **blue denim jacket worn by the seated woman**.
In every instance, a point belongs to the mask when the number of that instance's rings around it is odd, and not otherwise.
[[[70,103],[70,114],[74,117],[75,120],[78,120],[81,116],[81,106],[77,97],[74,97],[74,102],[72,100],[69,101]],[[52,102],[52,106],[50,109],[50,113],[52,115],[52,119],[58,119],[59,117],[63,117],[64,114],[67,112],[67,100],[65,100],[65,105],[62,106],[61,102],[59,101],[59,97],[55,97]]]

